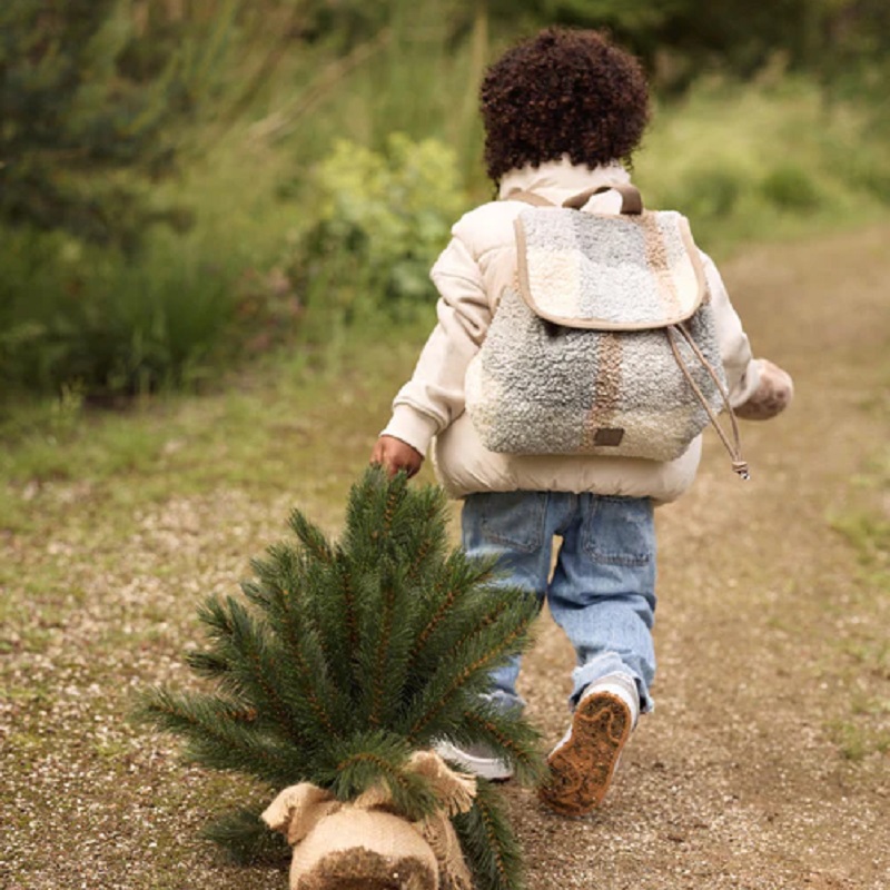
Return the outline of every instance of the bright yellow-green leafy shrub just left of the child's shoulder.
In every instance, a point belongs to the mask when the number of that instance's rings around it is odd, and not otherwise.
[[[346,320],[428,303],[429,267],[466,209],[454,152],[392,134],[384,152],[340,140],[315,169],[288,273],[310,312]]]

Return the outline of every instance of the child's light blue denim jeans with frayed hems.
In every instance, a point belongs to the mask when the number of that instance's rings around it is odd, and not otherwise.
[[[497,556],[498,583],[546,599],[577,655],[574,706],[606,674],[633,678],[640,710],[651,711],[655,674],[655,527],[646,497],[568,492],[492,492],[469,495],[462,516],[469,555]],[[562,537],[551,575],[553,537]],[[516,693],[520,659],[492,673],[492,698],[524,705]]]

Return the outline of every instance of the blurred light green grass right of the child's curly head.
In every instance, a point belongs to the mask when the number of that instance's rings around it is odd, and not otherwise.
[[[719,256],[753,241],[799,238],[886,218],[887,148],[870,110],[828,105],[804,79],[742,86],[702,80],[656,108],[636,160],[653,206],[685,212]]]

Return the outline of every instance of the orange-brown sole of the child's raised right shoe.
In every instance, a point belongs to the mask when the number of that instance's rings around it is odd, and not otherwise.
[[[561,815],[585,815],[602,803],[621,750],[631,734],[631,712],[611,692],[582,699],[572,732],[547,758],[550,777],[541,801]]]

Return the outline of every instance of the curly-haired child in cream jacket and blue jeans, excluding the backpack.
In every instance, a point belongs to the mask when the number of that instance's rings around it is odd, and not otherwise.
[[[394,400],[372,462],[414,475],[434,443],[437,475],[464,500],[463,545],[496,555],[504,583],[534,593],[577,654],[568,730],[547,762],[542,800],[580,815],[599,804],[641,713],[652,710],[655,673],[653,505],[692,483],[699,436],[670,462],[590,455],[507,455],[486,451],[464,411],[464,380],[504,287],[517,271],[514,220],[531,192],[553,204],[630,181],[623,164],[649,120],[636,60],[595,31],[547,29],[507,51],[482,85],[487,171],[498,200],[466,214],[431,276],[438,324],[412,379]],[[527,200],[527,197],[526,197]],[[606,190],[584,210],[617,212]],[[791,397],[791,380],[752,358],[748,337],[713,263],[702,255],[730,400],[742,416],[767,417]],[[752,406],[746,411],[745,406]],[[554,536],[562,538],[551,575]],[[492,700],[522,706],[515,660],[492,675]],[[487,751],[441,752],[492,779],[510,774]]]

